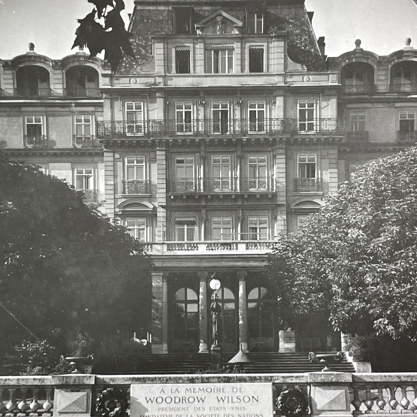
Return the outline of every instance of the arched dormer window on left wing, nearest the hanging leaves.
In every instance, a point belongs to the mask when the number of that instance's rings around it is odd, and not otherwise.
[[[77,65],[65,72],[65,95],[67,97],[100,96],[98,72],[86,65]]]

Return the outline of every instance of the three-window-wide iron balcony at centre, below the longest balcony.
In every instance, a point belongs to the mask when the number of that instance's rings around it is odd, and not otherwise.
[[[195,193],[273,193],[276,183],[272,177],[208,177],[173,178],[168,182],[168,192]]]

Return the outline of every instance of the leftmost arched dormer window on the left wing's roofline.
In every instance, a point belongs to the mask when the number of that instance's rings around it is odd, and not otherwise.
[[[40,65],[26,65],[16,71],[16,95],[19,97],[49,97],[50,76]]]

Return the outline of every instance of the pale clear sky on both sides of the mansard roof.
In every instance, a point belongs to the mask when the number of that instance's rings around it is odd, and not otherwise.
[[[133,1],[125,0],[123,18],[133,11]],[[306,0],[306,9],[314,11],[313,29],[325,36],[326,54],[339,56],[362,48],[388,55],[404,46],[405,38],[417,48],[417,5],[413,0]],[[70,53],[78,26],[92,10],[87,0],[0,0],[0,59],[10,59],[35,51],[52,59]]]

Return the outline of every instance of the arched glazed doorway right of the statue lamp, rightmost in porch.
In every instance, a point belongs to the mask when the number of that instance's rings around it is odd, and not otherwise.
[[[248,347],[250,351],[274,349],[272,299],[268,290],[256,286],[248,294]]]

